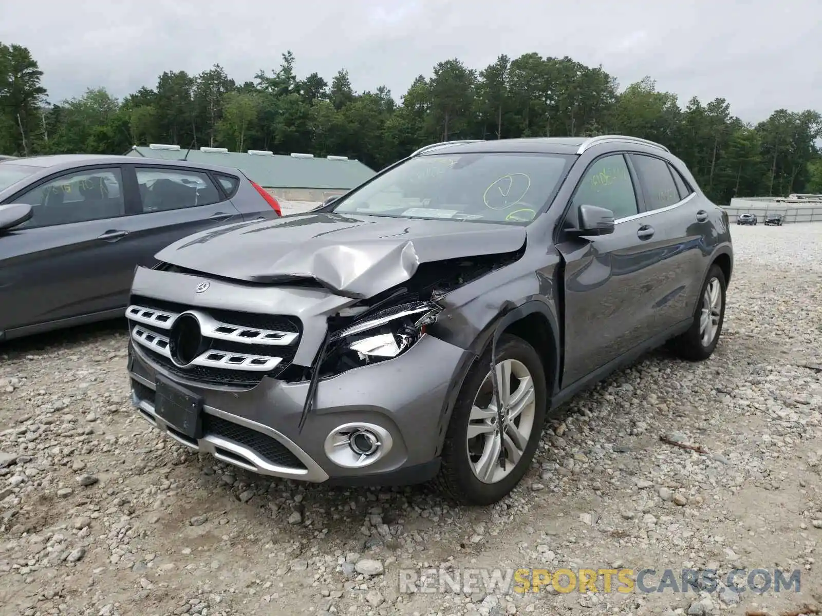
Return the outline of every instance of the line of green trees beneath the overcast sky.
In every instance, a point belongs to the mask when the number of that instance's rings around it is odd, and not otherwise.
[[[98,87],[49,103],[42,76],[27,48],[0,43],[0,154],[123,154],[167,143],[338,154],[379,169],[441,140],[617,133],[666,145],[718,203],[822,192],[817,111],[778,109],[751,124],[725,99],[683,107],[650,77],[619,91],[603,67],[570,57],[501,55],[481,70],[445,60],[399,102],[385,86],[355,92],[345,70],[330,84],[316,72],[300,78],[291,52],[251,81],[219,64],[199,75],[165,71],[122,100]]]

